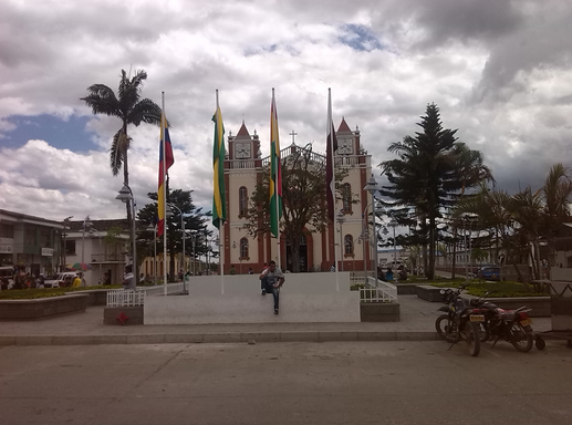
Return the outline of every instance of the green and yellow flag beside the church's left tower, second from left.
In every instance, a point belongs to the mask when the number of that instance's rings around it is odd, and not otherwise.
[[[227,205],[225,201],[225,125],[222,114],[217,102],[217,112],[212,115],[215,122],[215,142],[212,148],[212,172],[214,172],[214,193],[212,193],[212,225],[220,229],[220,225],[227,220]]]

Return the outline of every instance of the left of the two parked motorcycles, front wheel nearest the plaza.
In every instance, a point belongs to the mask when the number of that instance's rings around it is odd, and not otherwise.
[[[437,318],[435,329],[441,339],[451,343],[451,346],[461,339],[465,340],[469,354],[477,356],[480,352],[480,324],[485,322],[485,315],[460,298],[465,288],[467,287],[461,286],[456,291],[453,289],[439,291],[446,303],[439,308],[439,311],[444,311],[446,314]]]

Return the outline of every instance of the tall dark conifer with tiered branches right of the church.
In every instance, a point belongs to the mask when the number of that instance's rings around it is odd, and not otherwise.
[[[412,219],[420,224],[414,236],[416,242],[428,247],[424,269],[433,279],[437,219],[443,218],[466,188],[489,178],[490,172],[482,165],[479,153],[457,142],[456,129],[443,127],[435,104],[427,105],[418,125],[423,132],[417,132],[415,137],[405,136],[403,142],[389,145],[387,151],[398,157],[379,164],[389,183],[382,187],[381,194],[392,199],[385,204],[392,206],[393,216],[401,225],[410,225]]]

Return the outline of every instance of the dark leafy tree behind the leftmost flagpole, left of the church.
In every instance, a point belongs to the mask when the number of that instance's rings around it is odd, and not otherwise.
[[[207,215],[202,212],[201,208],[197,208],[193,204],[193,190],[175,189],[168,194],[167,203],[175,205],[183,212],[183,220],[185,221],[186,231],[186,243],[185,253],[193,255],[193,241],[189,234],[205,234],[205,222]],[[138,232],[139,243],[137,247],[142,247],[142,251],[147,252],[148,256],[153,256],[153,243],[154,230],[148,230],[149,226],[154,227],[157,222],[157,193],[153,191],[147,194],[147,197],[153,203],[145,205],[138,214],[137,220],[139,222],[141,231]],[[167,206],[167,210],[168,210]],[[170,256],[169,262],[169,276],[175,276],[175,256],[183,251],[183,227],[180,214],[176,208],[171,209],[173,215],[167,218],[167,250]],[[208,232],[207,232],[208,234]],[[150,248],[149,248],[150,247]],[[139,248],[137,248],[139,250]],[[163,252],[163,240],[157,239],[157,252]],[[205,238],[198,237],[195,250],[195,257],[206,255],[207,245]]]

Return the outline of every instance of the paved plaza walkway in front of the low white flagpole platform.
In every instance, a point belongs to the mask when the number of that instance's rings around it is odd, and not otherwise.
[[[401,321],[389,323],[256,323],[196,325],[103,324],[103,307],[85,313],[31,321],[0,322],[0,345],[158,344],[197,342],[325,342],[437,340],[440,303],[399,296]],[[285,305],[283,307],[285,308]],[[272,311],[269,308],[269,318]],[[551,329],[549,318],[533,320],[537,332]]]

